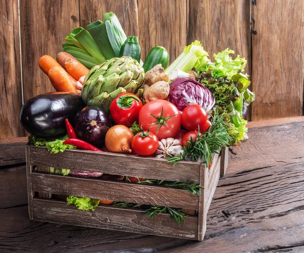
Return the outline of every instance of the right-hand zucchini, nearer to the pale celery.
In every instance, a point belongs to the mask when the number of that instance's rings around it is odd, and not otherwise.
[[[168,51],[163,47],[155,47],[150,50],[145,61],[142,65],[144,72],[149,71],[151,68],[157,64],[162,64],[165,69],[168,66],[169,54]]]

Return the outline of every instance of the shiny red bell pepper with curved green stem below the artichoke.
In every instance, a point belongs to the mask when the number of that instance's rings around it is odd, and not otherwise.
[[[125,125],[128,128],[138,122],[138,114],[142,108],[140,99],[132,93],[122,93],[110,105],[110,114],[117,124]]]

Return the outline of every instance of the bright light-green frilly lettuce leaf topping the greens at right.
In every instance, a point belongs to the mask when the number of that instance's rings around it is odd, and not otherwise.
[[[214,63],[208,65],[208,68],[212,70],[213,78],[232,78],[239,71],[242,72],[245,70],[247,60],[241,58],[239,55],[235,59],[232,59],[229,55],[234,53],[233,50],[227,48],[217,55],[213,55]]]

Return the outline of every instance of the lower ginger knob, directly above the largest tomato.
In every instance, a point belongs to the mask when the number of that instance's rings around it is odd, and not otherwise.
[[[143,86],[143,98],[145,103],[157,99],[166,99],[170,92],[169,83],[166,81],[158,81],[151,86]]]

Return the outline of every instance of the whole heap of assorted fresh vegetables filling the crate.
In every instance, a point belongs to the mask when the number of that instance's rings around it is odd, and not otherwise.
[[[113,152],[212,163],[222,147],[239,146],[247,138],[243,118],[255,94],[244,73],[247,61],[225,49],[214,62],[200,41],[184,47],[168,66],[168,51],[157,46],[144,62],[138,37],[127,37],[113,13],[75,28],[62,44],[56,60],[42,56],[40,68],[56,92],[24,103],[20,121],[29,142],[51,153],[66,149]],[[50,173],[72,177],[124,180],[180,188],[200,194],[195,183],[168,182],[120,175],[50,168]],[[81,210],[99,204],[146,210],[147,217],[168,213],[180,224],[181,209],[108,199],[69,196],[67,204]]]

